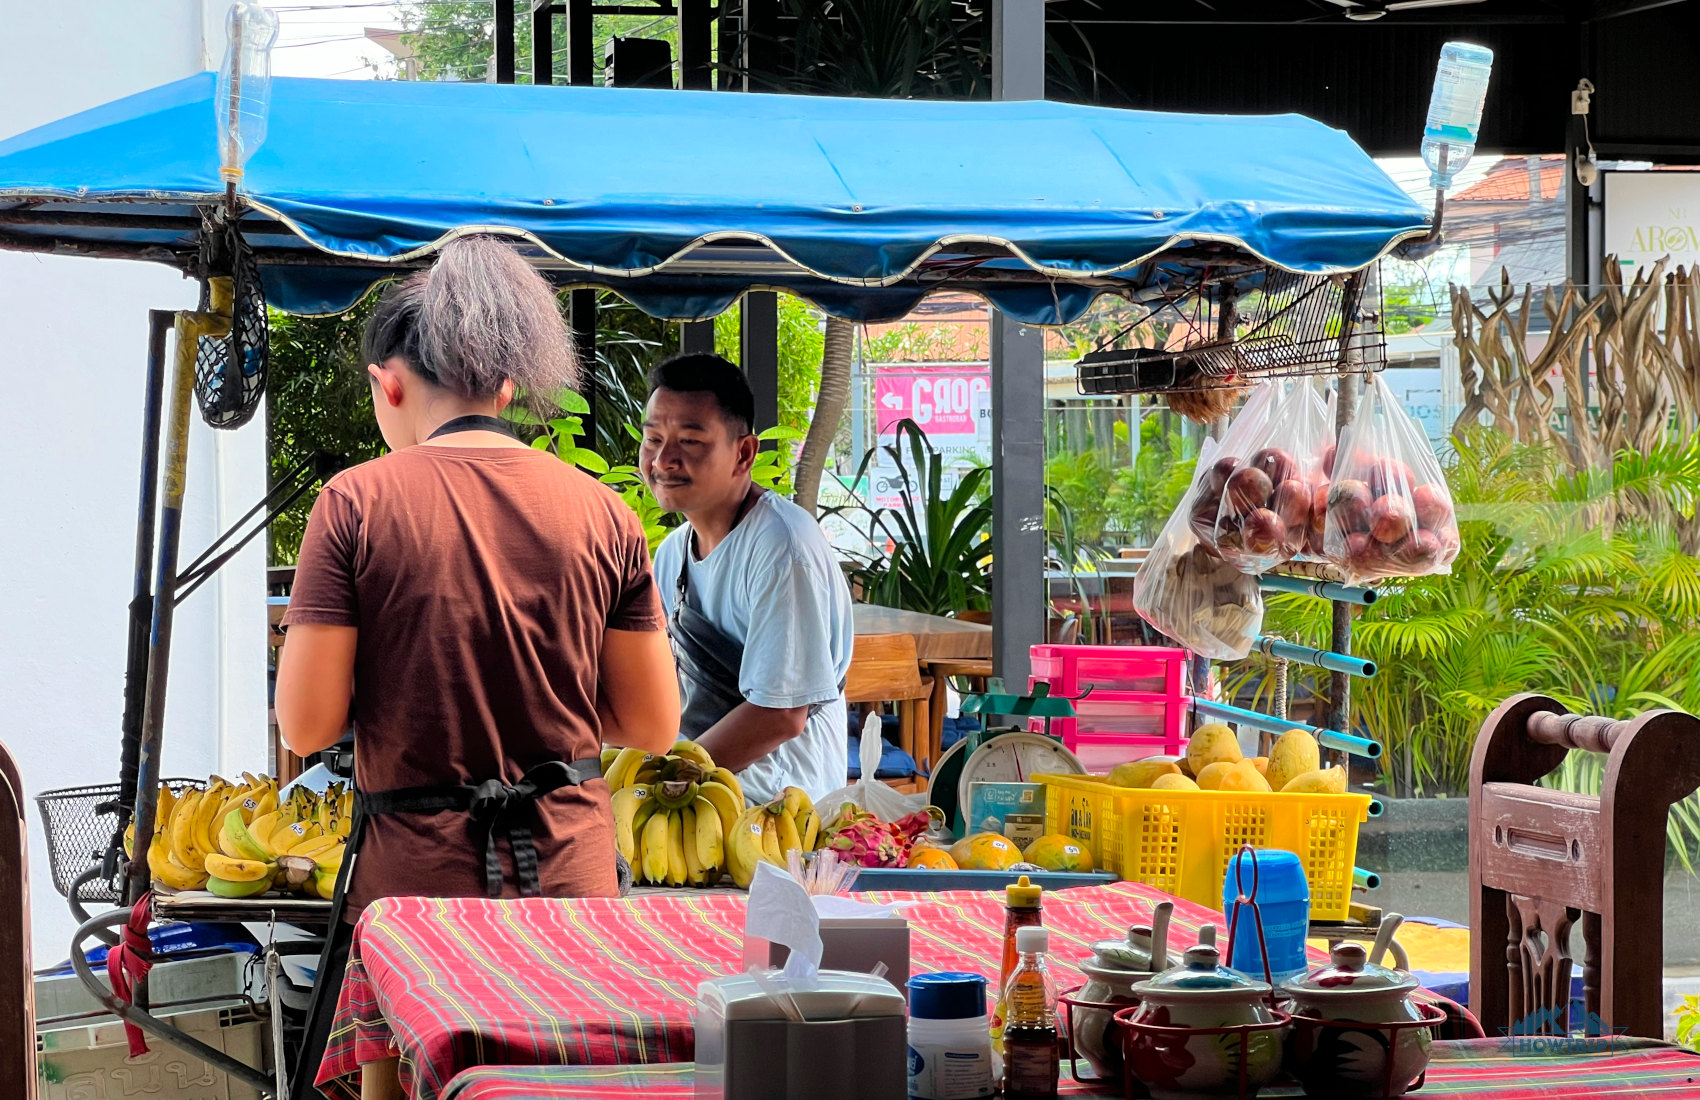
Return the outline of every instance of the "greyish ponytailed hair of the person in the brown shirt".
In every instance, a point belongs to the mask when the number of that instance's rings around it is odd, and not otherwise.
[[[554,287],[491,236],[449,241],[430,270],[384,294],[362,340],[366,362],[401,357],[428,383],[488,398],[513,383],[549,403],[578,386],[578,355]]]

